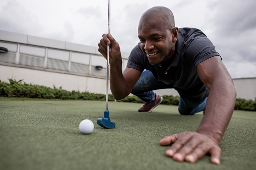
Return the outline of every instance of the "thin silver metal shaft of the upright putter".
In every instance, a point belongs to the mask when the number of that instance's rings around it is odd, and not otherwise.
[[[110,33],[111,0],[108,0],[107,33]],[[109,45],[107,45],[107,71],[106,71],[106,110],[108,110],[108,86],[109,86]]]

